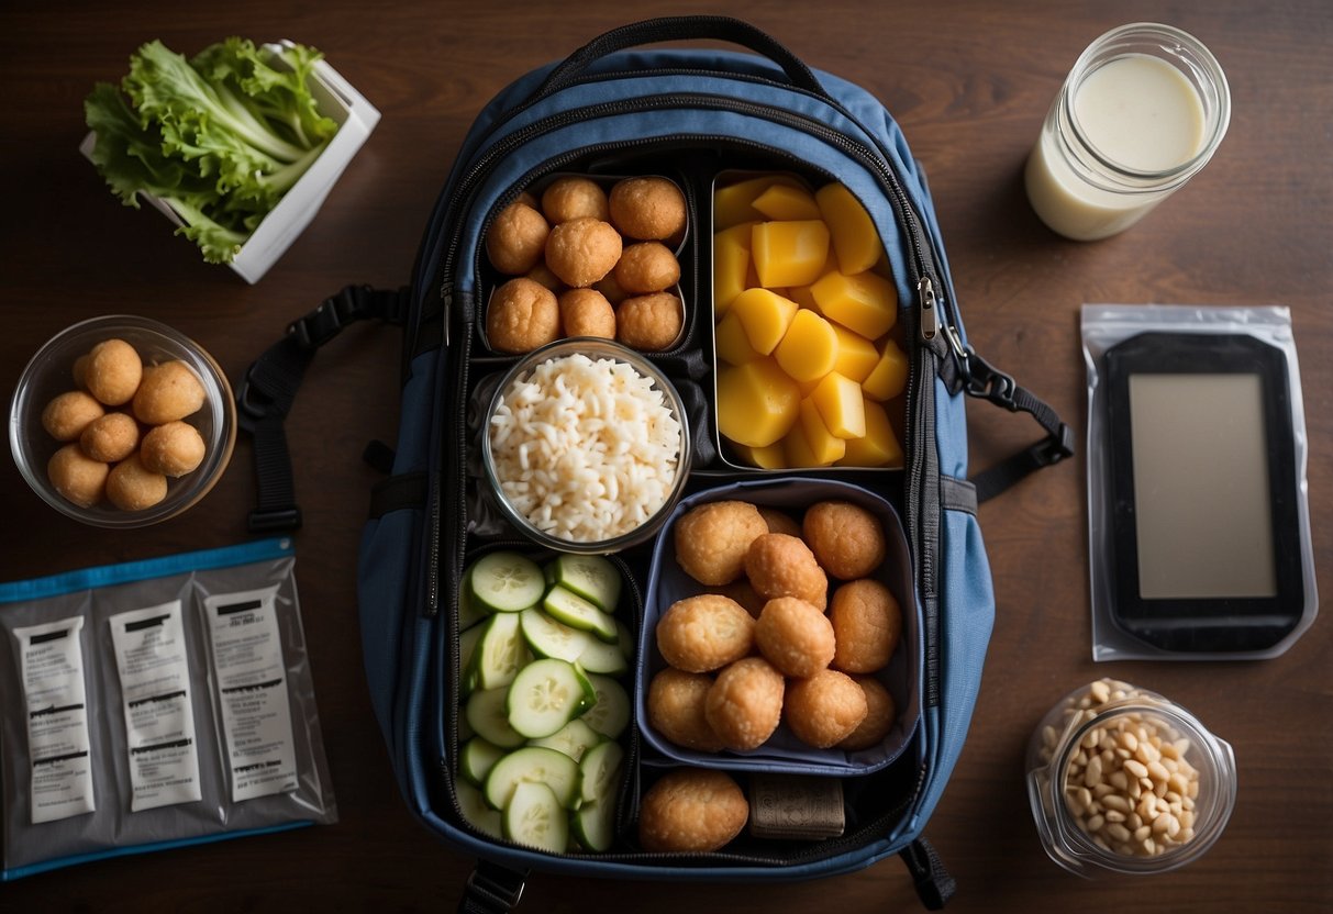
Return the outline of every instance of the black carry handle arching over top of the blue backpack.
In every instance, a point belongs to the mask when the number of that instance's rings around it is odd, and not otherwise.
[[[692,40],[728,41],[749,48],[781,67],[786,79],[796,88],[828,99],[828,93],[814,72],[800,57],[777,39],[744,20],[730,16],[661,16],[604,32],[579,48],[551,71],[551,75],[532,96],[532,101],[571,85],[593,61],[617,51],[659,41]]]

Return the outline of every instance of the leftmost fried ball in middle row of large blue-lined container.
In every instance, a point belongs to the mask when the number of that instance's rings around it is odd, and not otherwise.
[[[673,602],[657,620],[657,650],[686,673],[708,673],[754,646],[754,620],[734,600],[701,593]]]

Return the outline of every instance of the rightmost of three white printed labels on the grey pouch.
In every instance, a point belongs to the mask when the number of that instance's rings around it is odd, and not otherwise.
[[[276,588],[204,598],[223,707],[232,799],[296,789]]]

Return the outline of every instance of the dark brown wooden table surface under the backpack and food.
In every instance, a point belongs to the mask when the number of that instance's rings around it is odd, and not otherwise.
[[[1318,584],[1333,589],[1333,9],[1325,0],[1206,4],[287,3],[181,7],[7,4],[0,119],[0,398],[64,326],[139,313],[201,341],[239,380],[293,317],[348,282],[395,286],[464,132],[508,81],[629,19],[748,16],[810,65],[858,81],[901,123],[932,184],[976,348],[1045,397],[1080,436],[1084,302],[1278,304],[1292,310],[1309,436]],[[1198,36],[1230,81],[1230,131],[1212,164],[1129,232],[1064,241],[1026,205],[1024,159],[1073,60],[1126,21]],[[227,35],[291,37],[383,112],[315,223],[249,286],[203,264],[151,212],[123,208],[77,153],[81,101],[160,37],[193,52]],[[376,474],[361,461],[396,429],[399,342],[359,326],[327,348],[289,422],[305,526],[297,581],[340,821],[335,826],[96,862],[0,886],[0,909],[452,910],[472,862],[409,815],[391,777],[361,669],[355,554]],[[1036,426],[969,405],[973,470]],[[952,910],[1333,910],[1333,626],[1317,620],[1260,662],[1117,662],[1090,656],[1082,456],[981,509],[998,600],[970,735],[926,829],[958,881]],[[133,533],[67,521],[0,461],[0,580],[248,538],[248,442],[185,517]],[[1116,676],[1174,698],[1234,746],[1240,791],[1217,845],[1181,871],[1086,882],[1037,841],[1025,741],[1069,689]],[[528,911],[917,910],[896,859],[786,885],[617,883],[535,877]]]

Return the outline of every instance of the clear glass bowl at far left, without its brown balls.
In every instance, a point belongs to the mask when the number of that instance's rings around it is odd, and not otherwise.
[[[47,462],[65,442],[47,433],[41,412],[53,397],[76,389],[75,360],[109,338],[132,345],[145,365],[179,358],[204,385],[203,408],[185,418],[204,438],[204,461],[185,476],[168,478],[167,497],[143,510],[121,510],[105,500],[83,508],[61,496],[47,477]],[[227,374],[193,340],[147,317],[108,314],[61,330],[24,368],[9,406],[9,449],[28,485],[61,514],[92,526],[131,529],[176,517],[221,478],[235,444],[236,402]]]

